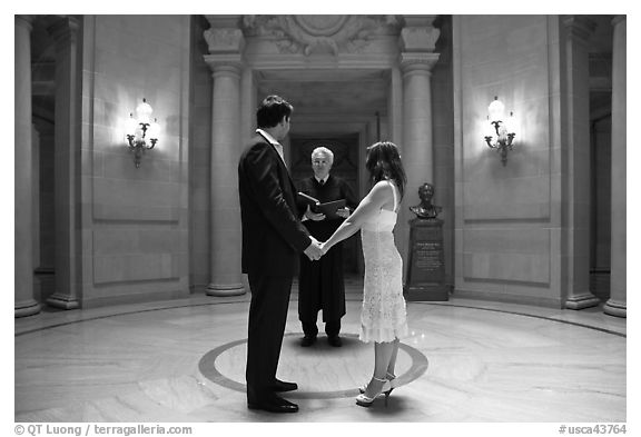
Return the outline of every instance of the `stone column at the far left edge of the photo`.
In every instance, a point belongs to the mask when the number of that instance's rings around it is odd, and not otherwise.
[[[31,125],[31,16],[14,16],[14,317],[40,312],[33,299],[33,206]],[[24,199],[28,199],[24,201]]]

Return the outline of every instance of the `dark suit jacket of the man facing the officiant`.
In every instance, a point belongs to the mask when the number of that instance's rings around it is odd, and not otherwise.
[[[294,276],[312,242],[297,218],[296,188],[280,156],[265,138],[252,139],[238,163],[243,272]]]

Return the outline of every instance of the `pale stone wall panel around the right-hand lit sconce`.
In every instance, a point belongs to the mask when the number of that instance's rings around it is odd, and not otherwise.
[[[455,292],[561,305],[561,192],[546,17],[455,16]],[[502,165],[484,142],[497,96],[521,120]],[[558,118],[556,118],[558,120]]]

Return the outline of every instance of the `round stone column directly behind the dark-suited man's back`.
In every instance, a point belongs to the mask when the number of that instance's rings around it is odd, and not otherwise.
[[[211,227],[209,296],[245,294],[240,268],[240,203],[238,158],[240,136],[240,77],[244,38],[233,18],[208,18],[205,31],[209,53],[205,61],[214,77],[211,96]]]

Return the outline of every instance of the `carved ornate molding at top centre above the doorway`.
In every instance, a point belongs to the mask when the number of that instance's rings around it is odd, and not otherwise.
[[[372,37],[394,32],[395,16],[244,16],[247,36],[273,39],[282,53],[359,52]],[[397,34],[397,30],[396,30]]]

